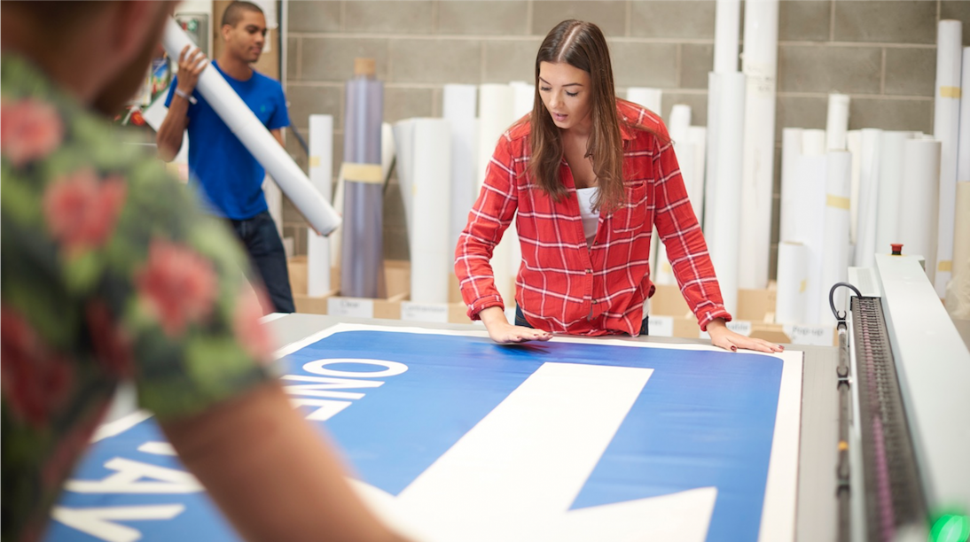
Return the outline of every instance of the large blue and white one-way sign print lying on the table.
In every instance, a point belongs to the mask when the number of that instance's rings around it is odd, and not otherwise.
[[[284,350],[297,408],[415,537],[793,538],[800,353],[356,325]],[[92,445],[47,540],[238,540],[139,419]]]

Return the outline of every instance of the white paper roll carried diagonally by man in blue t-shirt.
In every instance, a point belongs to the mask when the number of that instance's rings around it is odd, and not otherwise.
[[[173,58],[178,58],[181,49],[186,46],[196,47],[174,18],[170,18],[165,27],[162,44]],[[333,233],[340,225],[337,211],[313,188],[300,166],[246,107],[229,83],[207,66],[199,76],[196,88],[246,149],[273,176],[309,225],[322,235]]]

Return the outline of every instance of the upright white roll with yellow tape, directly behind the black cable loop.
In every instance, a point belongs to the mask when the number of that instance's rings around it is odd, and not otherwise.
[[[822,297],[819,303],[822,324],[834,325],[835,316],[828,303],[828,291],[836,282],[849,277],[849,195],[852,191],[852,154],[846,150],[829,151],[825,157],[825,218],[823,223]],[[835,308],[845,310],[844,290],[835,295]]]

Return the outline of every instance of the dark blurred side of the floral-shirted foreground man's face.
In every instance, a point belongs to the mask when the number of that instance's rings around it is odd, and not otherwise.
[[[144,32],[136,34],[144,37],[144,40],[135,45],[135,55],[121,66],[112,80],[102,87],[100,94],[94,99],[93,105],[97,111],[107,115],[113,115],[120,111],[145,82],[148,65],[161,42],[162,32],[165,30],[165,24],[168,21],[167,15],[172,13],[178,4],[178,0],[166,0],[159,2],[159,4],[162,4],[162,6],[158,15],[145,22]]]

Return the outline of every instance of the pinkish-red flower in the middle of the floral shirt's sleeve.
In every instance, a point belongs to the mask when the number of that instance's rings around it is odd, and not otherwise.
[[[209,260],[187,246],[154,239],[136,273],[139,296],[170,337],[205,320],[215,301],[216,276]]]

